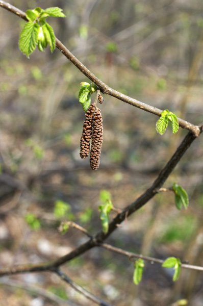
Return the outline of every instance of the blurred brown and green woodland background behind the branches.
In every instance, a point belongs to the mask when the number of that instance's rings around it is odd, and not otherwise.
[[[202,121],[203,7],[200,0],[64,0],[11,2],[26,11],[58,6],[67,18],[48,18],[63,44],[114,89],[198,124]],[[71,219],[91,234],[100,230],[98,206],[107,190],[124,208],[156,179],[187,131],[158,135],[158,117],[104,96],[100,166],[81,160],[85,113],[78,100],[88,79],[59,52],[18,48],[24,21],[0,9],[0,265],[36,263],[63,256],[86,241],[77,230],[58,233]],[[94,96],[92,96],[94,99]],[[158,194],[108,239],[128,251],[160,259],[179,257],[203,265],[202,137],[195,140],[164,187],[174,182],[189,195],[178,211],[174,195]],[[111,218],[115,213],[111,213]],[[62,270],[79,285],[116,306],[200,306],[202,272],[145,263],[139,286],[133,263],[92,249]],[[35,285],[44,289],[39,292]],[[33,286],[29,291],[29,286]],[[54,293],[57,299],[49,296]],[[50,273],[0,279],[0,305],[93,305]]]

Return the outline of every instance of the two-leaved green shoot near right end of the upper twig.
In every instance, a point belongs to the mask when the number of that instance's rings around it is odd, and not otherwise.
[[[169,110],[165,110],[161,113],[161,117],[156,123],[156,130],[159,134],[163,135],[166,132],[169,121],[172,123],[173,134],[179,130],[177,116],[169,112]]]

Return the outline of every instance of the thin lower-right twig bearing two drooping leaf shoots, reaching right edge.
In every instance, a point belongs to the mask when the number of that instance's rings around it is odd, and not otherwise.
[[[100,246],[102,246],[102,247],[104,247],[104,248],[106,248],[106,249],[108,249],[110,251],[113,251],[113,252],[122,254],[124,256],[127,256],[130,259],[132,259],[132,258],[141,258],[141,259],[149,261],[151,263],[158,263],[158,264],[163,264],[164,263],[164,260],[162,260],[162,259],[157,259],[157,258],[154,258],[154,257],[143,256],[142,254],[136,254],[136,253],[133,253],[133,252],[128,252],[128,251],[122,250],[122,249],[120,249],[118,247],[114,247],[114,246],[112,246],[110,244],[101,243]],[[181,264],[181,267],[185,268],[185,269],[203,271],[203,267],[200,267],[200,266]]]

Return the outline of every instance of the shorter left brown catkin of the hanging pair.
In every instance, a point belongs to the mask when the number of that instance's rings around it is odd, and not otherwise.
[[[81,137],[81,158],[86,158],[89,155],[90,151],[90,140],[92,136],[92,116],[94,114],[95,104],[90,104],[86,112],[86,119],[83,124],[83,133]]]

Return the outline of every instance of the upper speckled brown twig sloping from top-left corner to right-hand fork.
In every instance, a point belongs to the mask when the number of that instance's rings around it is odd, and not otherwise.
[[[10,5],[9,3],[0,0],[0,6],[2,6],[3,8],[5,8],[6,10],[18,15],[19,17],[21,17],[22,19],[27,20],[26,18],[26,13],[24,13],[23,11],[15,8],[14,6]],[[86,75],[86,77],[91,80],[94,84],[96,84],[96,86],[98,86],[98,88],[100,89],[101,92],[105,93],[105,94],[109,94],[125,103],[128,103],[132,106],[135,106],[139,109],[142,109],[146,112],[152,113],[154,115],[157,116],[161,116],[162,110],[147,105],[139,100],[133,99],[129,96],[126,96],[124,94],[122,94],[119,91],[114,90],[113,88],[109,87],[108,85],[106,85],[104,82],[102,82],[101,80],[99,80],[85,65],[83,65],[63,44],[60,40],[58,40],[58,38],[56,38],[56,47],[65,55],[65,57],[71,61],[84,75]],[[183,119],[178,118],[179,120],[179,125],[183,128],[186,129],[188,131],[190,131],[195,137],[198,137],[199,133],[200,133],[200,129],[199,126],[194,125],[190,122],[187,122]]]

